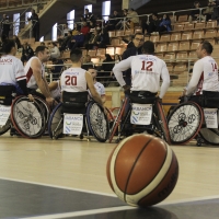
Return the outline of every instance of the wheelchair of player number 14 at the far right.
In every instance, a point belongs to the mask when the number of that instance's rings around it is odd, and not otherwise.
[[[218,120],[210,116],[211,120],[207,122],[209,115],[204,116],[206,111],[212,112],[215,115],[218,114],[219,92],[204,91],[197,103],[193,99],[192,101],[187,100],[188,97],[184,96],[183,103],[174,107],[168,116],[171,142],[184,145],[195,138],[197,146],[203,143],[219,146]],[[208,127],[208,123],[212,123],[212,119],[217,128]]]

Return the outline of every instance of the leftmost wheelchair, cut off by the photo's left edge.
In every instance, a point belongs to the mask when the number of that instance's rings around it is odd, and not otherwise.
[[[32,102],[27,96],[16,96],[14,85],[0,85],[0,135],[11,129],[11,136],[38,138],[45,131],[49,108],[38,96]]]

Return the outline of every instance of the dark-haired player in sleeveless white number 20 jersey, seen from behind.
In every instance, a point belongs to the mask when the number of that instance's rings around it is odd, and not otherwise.
[[[80,49],[73,49],[71,51],[70,58],[72,61],[71,68],[65,70],[61,73],[61,92],[84,92],[89,89],[94,101],[103,106],[101,96],[94,88],[91,73],[81,68],[81,64],[83,61],[82,51]]]

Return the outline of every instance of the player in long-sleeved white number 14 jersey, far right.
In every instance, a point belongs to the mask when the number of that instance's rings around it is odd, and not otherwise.
[[[211,57],[212,49],[209,42],[200,43],[196,50],[199,60],[194,65],[191,81],[184,92],[191,96],[191,101],[195,101],[199,105],[201,105],[200,97],[204,93],[219,92],[218,65]],[[216,94],[219,95],[215,93],[215,97]]]

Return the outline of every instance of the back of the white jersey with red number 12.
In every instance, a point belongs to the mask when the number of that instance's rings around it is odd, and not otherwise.
[[[153,55],[138,55],[131,60],[131,90],[150,91],[157,93],[160,88],[160,78],[166,65]]]

